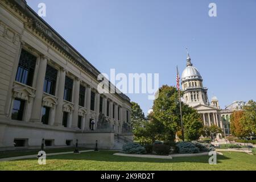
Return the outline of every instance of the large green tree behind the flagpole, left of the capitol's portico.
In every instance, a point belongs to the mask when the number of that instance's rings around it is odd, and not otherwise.
[[[154,101],[152,109],[154,117],[163,123],[165,128],[164,140],[167,142],[174,141],[176,132],[181,130],[179,93],[177,89],[174,86],[163,85],[159,89],[158,98]],[[200,114],[183,103],[181,103],[181,110],[184,121],[184,137],[189,140],[198,139],[200,130],[203,129]]]

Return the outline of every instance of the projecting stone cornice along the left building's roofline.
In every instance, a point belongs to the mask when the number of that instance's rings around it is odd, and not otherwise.
[[[62,38],[48,23],[46,23],[34,10],[32,10],[24,0],[4,0],[5,5],[14,10],[16,17],[22,19],[26,30],[36,34],[44,42],[55,48],[62,55],[71,60],[79,68],[90,75],[94,80],[100,74],[88,60],[85,59],[75,48],[73,48],[64,38]],[[6,7],[6,6],[5,6]],[[115,93],[121,100],[130,104],[130,98],[123,93]]]

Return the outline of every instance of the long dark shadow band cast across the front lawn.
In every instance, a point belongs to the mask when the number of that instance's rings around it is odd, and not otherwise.
[[[116,151],[93,151],[84,152],[81,154],[64,154],[48,156],[48,160],[90,160],[97,162],[147,162],[147,163],[205,163],[208,164],[210,156],[194,156],[183,157],[173,159],[152,159],[152,158],[135,158],[128,156],[113,155]],[[217,155],[217,163],[221,163],[221,160],[228,160],[230,158],[224,155]],[[35,160],[35,159],[24,159]]]

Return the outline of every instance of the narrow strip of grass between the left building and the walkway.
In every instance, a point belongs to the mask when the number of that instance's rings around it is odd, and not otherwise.
[[[74,151],[75,147],[66,147],[66,148],[45,148],[44,151],[46,153],[57,153],[57,152],[71,152]],[[88,150],[88,148],[79,147],[79,150]],[[38,154],[40,149],[36,150],[12,150],[12,151],[0,151],[0,159],[2,158],[11,158],[15,156],[22,155],[34,155]]]

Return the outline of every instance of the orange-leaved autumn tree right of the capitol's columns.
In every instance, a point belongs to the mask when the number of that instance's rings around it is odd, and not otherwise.
[[[237,110],[230,116],[230,131],[235,137],[242,138],[247,134],[241,123],[243,115],[244,112],[242,110]]]

